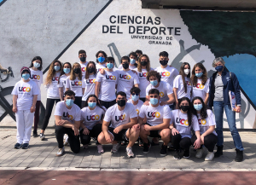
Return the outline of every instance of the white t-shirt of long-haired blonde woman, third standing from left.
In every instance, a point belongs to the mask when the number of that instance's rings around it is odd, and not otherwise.
[[[47,88],[47,98],[49,99],[60,99],[58,80],[60,78],[61,72],[56,72],[55,76],[52,78],[51,84],[46,85]]]

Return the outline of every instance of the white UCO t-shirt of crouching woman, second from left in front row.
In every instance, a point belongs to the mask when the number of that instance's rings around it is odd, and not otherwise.
[[[84,107],[81,110],[81,121],[84,121],[84,126],[86,126],[87,129],[92,130],[94,125],[102,120],[104,114],[105,111],[101,107],[96,106],[94,110],[90,110],[89,107]]]

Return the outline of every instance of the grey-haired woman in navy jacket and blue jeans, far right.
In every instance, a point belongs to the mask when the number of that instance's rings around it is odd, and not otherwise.
[[[241,112],[241,92],[236,74],[233,72],[227,72],[224,68],[225,62],[223,58],[218,57],[212,62],[212,66],[216,71],[212,74],[209,83],[209,102],[208,106],[213,107],[215,120],[216,120],[216,132],[218,134],[217,152],[214,153],[214,157],[218,158],[223,155],[223,113],[225,110],[230,132],[233,137],[233,141],[236,147],[236,162],[241,162],[243,159],[243,150],[241,143],[241,137],[236,129],[236,113]],[[232,110],[230,106],[229,91],[233,91],[236,95],[236,110]]]

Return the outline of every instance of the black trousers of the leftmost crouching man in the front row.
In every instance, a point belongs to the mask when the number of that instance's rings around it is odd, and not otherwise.
[[[63,146],[63,136],[64,136],[64,134],[67,134],[68,142],[69,142],[70,148],[73,151],[73,153],[80,152],[79,136],[74,135],[73,129],[66,128],[63,126],[56,126],[55,132],[56,132],[56,139],[57,139],[59,148],[64,147]]]

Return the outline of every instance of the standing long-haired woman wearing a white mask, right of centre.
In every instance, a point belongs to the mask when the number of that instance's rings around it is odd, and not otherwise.
[[[191,98],[192,85],[190,82],[190,65],[188,62],[183,62],[180,66],[179,75],[173,81],[173,93],[175,95],[176,109],[178,109],[178,99],[183,97]]]

